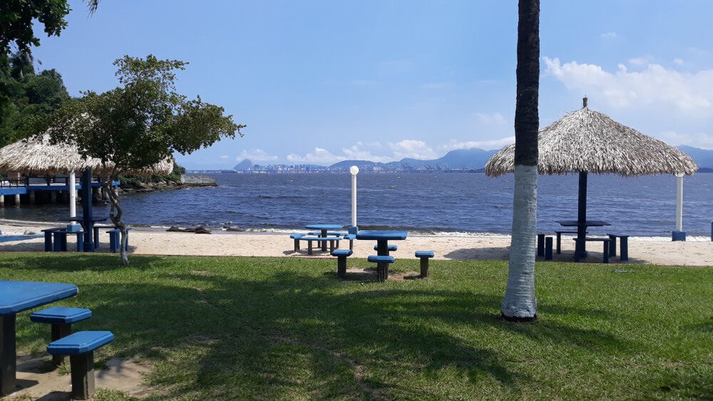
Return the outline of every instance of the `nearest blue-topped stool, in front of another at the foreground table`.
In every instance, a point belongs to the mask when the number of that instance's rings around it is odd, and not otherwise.
[[[47,345],[48,353],[69,356],[74,400],[94,395],[94,350],[113,339],[111,331],[78,331]]]

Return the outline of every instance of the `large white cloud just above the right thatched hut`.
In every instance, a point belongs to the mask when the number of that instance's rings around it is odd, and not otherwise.
[[[642,71],[608,72],[595,64],[560,63],[544,58],[545,72],[566,88],[600,98],[615,108],[649,108],[709,115],[713,110],[713,70],[683,73],[649,63]]]

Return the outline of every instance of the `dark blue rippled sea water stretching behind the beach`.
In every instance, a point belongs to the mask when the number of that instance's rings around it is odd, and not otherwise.
[[[130,224],[298,229],[305,224],[349,224],[350,177],[318,175],[214,175],[218,187],[125,194]],[[576,219],[576,175],[540,176],[538,227],[552,231],[561,219]],[[684,230],[709,235],[713,219],[713,174],[684,179]],[[509,233],[513,175],[476,173],[360,174],[360,226],[434,231]],[[604,231],[670,236],[675,222],[675,178],[591,175],[589,219],[613,224]],[[107,215],[97,206],[95,215]],[[52,221],[66,205],[0,209],[0,217]],[[595,231],[598,232],[598,231]]]

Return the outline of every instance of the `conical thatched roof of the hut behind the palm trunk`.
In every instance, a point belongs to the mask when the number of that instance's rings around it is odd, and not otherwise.
[[[583,107],[565,115],[538,134],[540,174],[568,172],[635,175],[691,175],[698,166],[689,155]],[[486,174],[515,170],[515,145],[497,152],[486,164]]]

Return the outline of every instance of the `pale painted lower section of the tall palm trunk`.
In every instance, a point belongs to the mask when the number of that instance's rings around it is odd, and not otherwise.
[[[503,298],[503,317],[533,320],[535,299],[535,242],[537,239],[537,166],[515,166],[513,231],[508,287]]]

